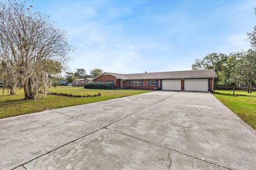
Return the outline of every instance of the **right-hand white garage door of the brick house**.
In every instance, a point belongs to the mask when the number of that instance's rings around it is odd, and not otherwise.
[[[207,79],[184,79],[184,90],[188,91],[208,91]]]

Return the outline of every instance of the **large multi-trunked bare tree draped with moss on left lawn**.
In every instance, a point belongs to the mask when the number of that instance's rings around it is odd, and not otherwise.
[[[72,50],[66,31],[52,25],[49,16],[33,13],[30,8],[26,1],[0,1],[0,43],[4,46],[0,57],[21,80],[25,99],[47,91],[50,74],[58,71],[51,69],[51,64],[62,68]]]

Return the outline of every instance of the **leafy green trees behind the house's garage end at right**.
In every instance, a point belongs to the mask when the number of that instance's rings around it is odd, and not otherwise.
[[[256,14],[256,8],[255,14]],[[215,69],[218,78],[214,84],[253,86],[256,83],[256,26],[252,33],[247,33],[251,49],[236,53],[217,54],[211,53],[204,59],[196,59],[192,64],[193,70]]]

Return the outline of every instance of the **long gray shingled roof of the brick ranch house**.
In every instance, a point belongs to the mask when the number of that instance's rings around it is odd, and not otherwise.
[[[180,79],[180,78],[216,78],[218,77],[214,69],[208,70],[187,70],[187,71],[169,71],[169,72],[150,72],[139,74],[118,74],[112,72],[104,72],[102,74],[110,74],[122,80],[136,79]],[[99,76],[101,76],[100,74]],[[97,76],[97,77],[99,77]],[[95,77],[95,78],[97,78]],[[93,78],[93,80],[95,79]]]

